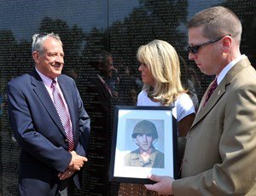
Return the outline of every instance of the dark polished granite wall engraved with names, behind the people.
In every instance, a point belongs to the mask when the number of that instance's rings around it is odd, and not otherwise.
[[[0,195],[17,195],[19,147],[9,126],[6,84],[33,68],[31,37],[37,32],[61,36],[64,73],[74,78],[91,118],[89,162],[84,167],[82,190],[76,195],[116,195],[119,184],[108,182],[115,105],[136,105],[142,89],[137,48],[163,39],[180,55],[183,85],[195,106],[211,78],[188,61],[186,21],[195,12],[222,4],[241,18],[241,52],[255,66],[256,28],[253,0],[216,1],[59,1],[24,0],[0,3]],[[109,89],[102,86],[102,79]]]

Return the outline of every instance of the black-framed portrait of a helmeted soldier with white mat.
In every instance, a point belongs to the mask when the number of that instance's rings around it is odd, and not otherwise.
[[[154,183],[177,178],[177,123],[172,107],[116,106],[109,181]]]

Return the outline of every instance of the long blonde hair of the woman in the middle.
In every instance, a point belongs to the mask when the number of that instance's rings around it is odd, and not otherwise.
[[[137,50],[137,60],[148,66],[155,85],[143,85],[148,97],[170,106],[178,95],[185,92],[180,80],[180,66],[176,50],[170,43],[154,40]]]

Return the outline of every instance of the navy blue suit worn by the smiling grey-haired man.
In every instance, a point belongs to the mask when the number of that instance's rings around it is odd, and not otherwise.
[[[72,78],[58,77],[73,124],[76,153],[85,156],[90,135],[90,118],[84,110]],[[20,152],[20,194],[54,195],[72,155],[67,149],[67,135],[42,79],[35,70],[8,84],[9,119]],[[77,187],[79,172],[73,175]],[[33,194],[35,193],[35,194]]]

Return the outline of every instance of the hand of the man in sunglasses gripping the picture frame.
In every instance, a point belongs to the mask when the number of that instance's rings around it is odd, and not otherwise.
[[[156,182],[155,184],[145,184],[145,187],[148,190],[156,191],[163,195],[173,194],[172,183],[174,182],[174,179],[172,179],[172,177],[149,175],[148,178]]]

